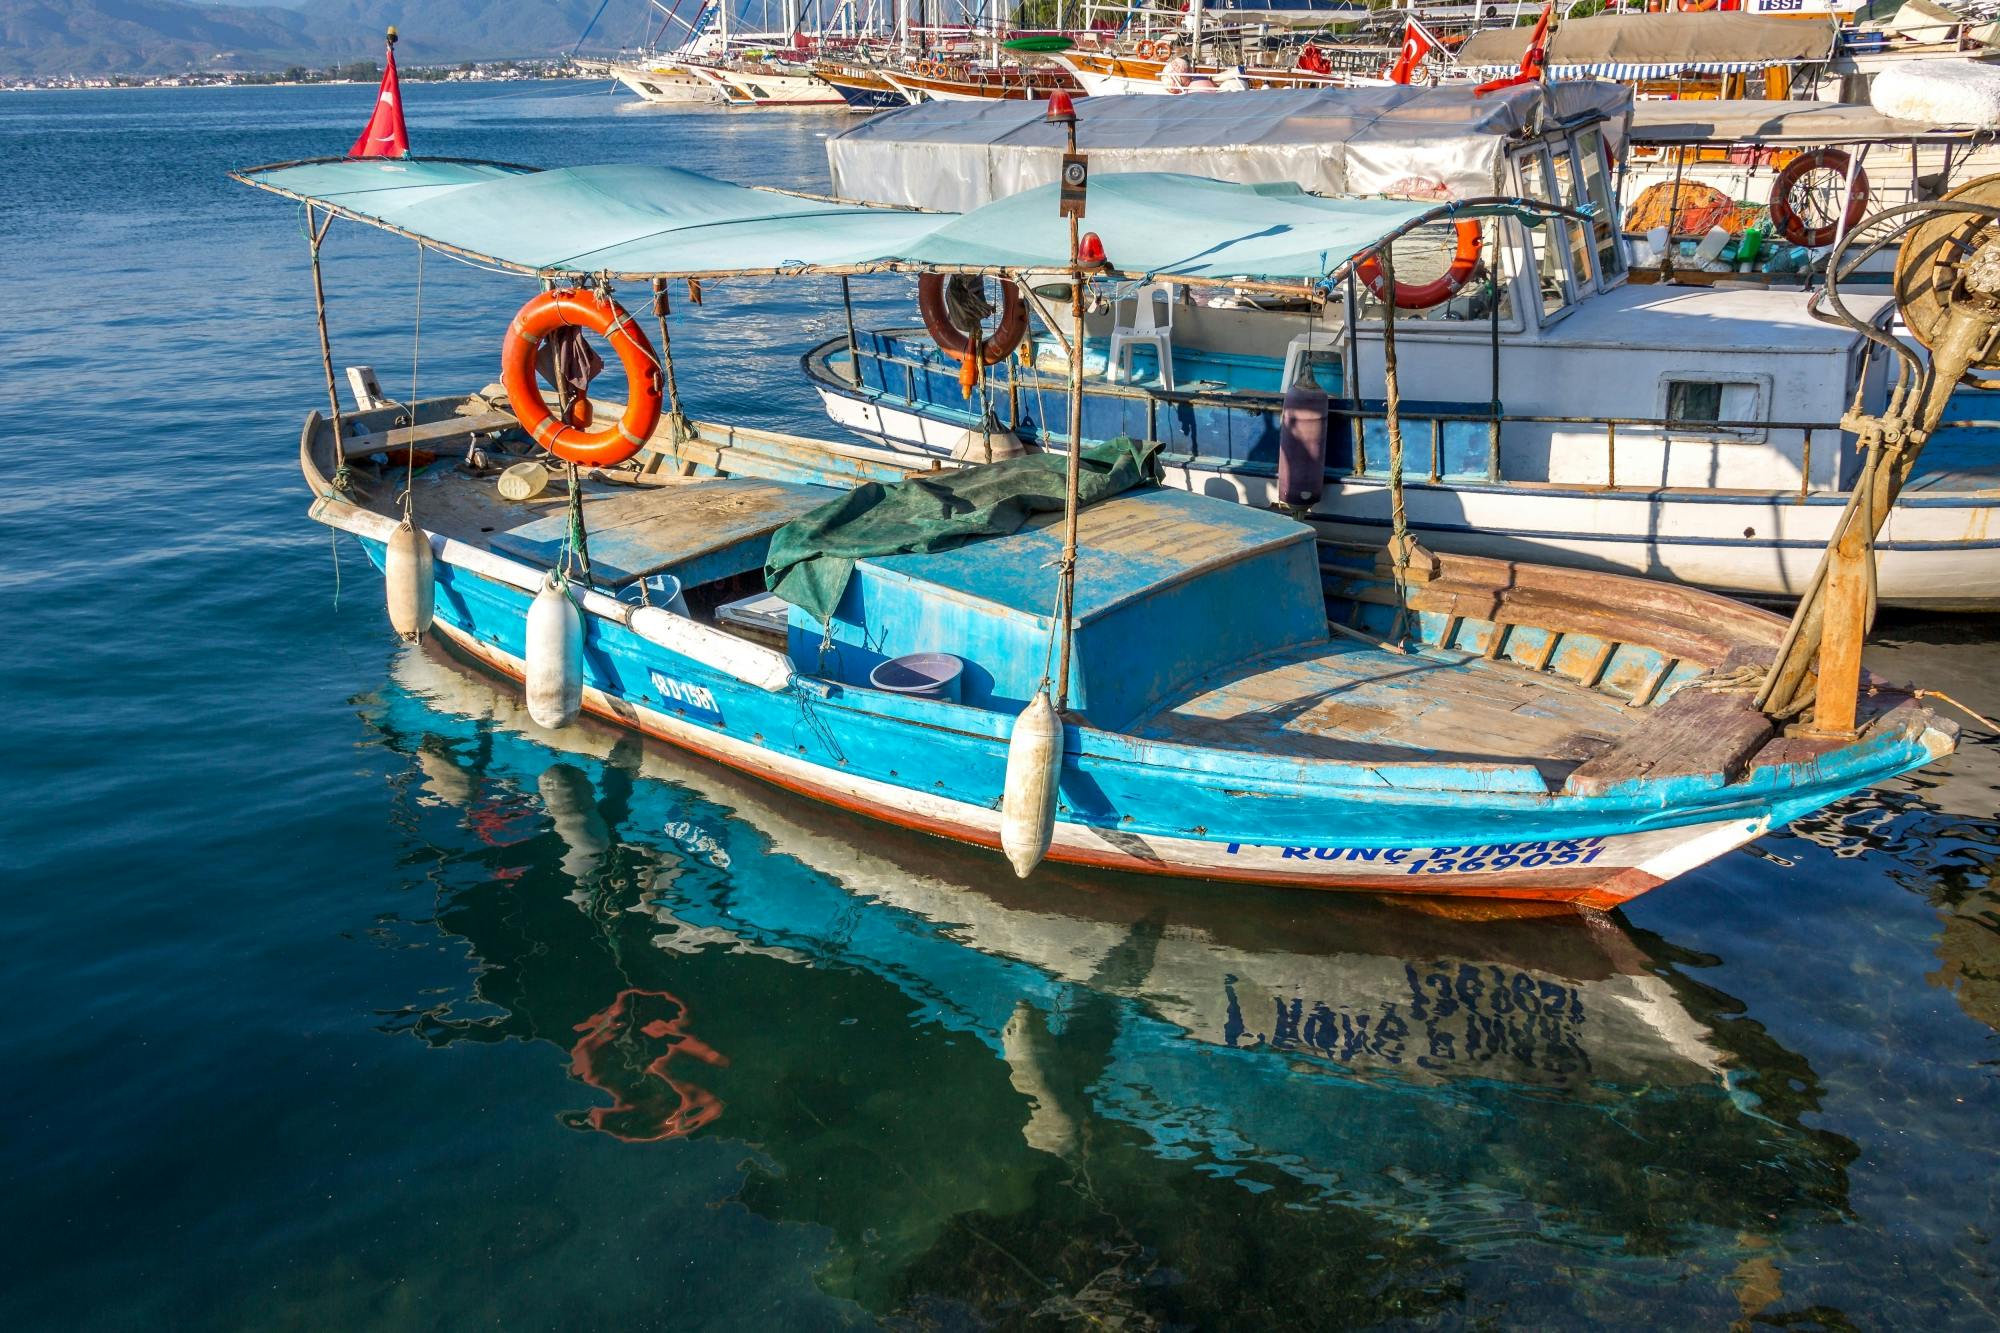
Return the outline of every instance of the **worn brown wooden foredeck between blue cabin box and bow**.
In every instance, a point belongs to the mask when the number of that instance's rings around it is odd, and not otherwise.
[[[1204,681],[1140,719],[1146,739],[1346,763],[1518,765],[1562,783],[1638,727],[1618,701],[1470,652],[1336,640]]]

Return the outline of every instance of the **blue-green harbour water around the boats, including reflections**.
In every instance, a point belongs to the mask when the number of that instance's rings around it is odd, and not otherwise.
[[[426,152],[804,186],[836,124],[410,102]],[[222,172],[364,108],[0,98],[4,1327],[2000,1317],[1992,747],[1608,923],[1458,923],[1024,887],[538,737],[304,514],[298,218]],[[330,246],[400,394],[414,248]],[[696,410],[810,426],[828,296],[712,284]],[[520,298],[432,256],[420,392]],[[2000,709],[1992,622],[1886,636]]]

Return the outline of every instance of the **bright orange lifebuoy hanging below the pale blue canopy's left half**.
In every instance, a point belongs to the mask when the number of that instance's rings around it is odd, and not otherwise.
[[[572,420],[564,422],[556,420],[542,400],[542,386],[534,378],[534,352],[542,346],[542,338],[564,326],[600,334],[624,366],[630,386],[624,416],[602,430],[584,430],[576,424],[590,422],[588,404],[578,410],[572,402]],[[624,462],[660,424],[660,358],[624,306],[602,292],[558,288],[530,298],[514,316],[500,346],[500,382],[522,430],[558,458],[586,468]]]

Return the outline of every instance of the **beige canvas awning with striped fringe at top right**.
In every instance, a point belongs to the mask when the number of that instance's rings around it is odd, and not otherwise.
[[[1550,78],[1748,74],[1830,60],[1840,22],[1770,14],[1598,14],[1564,20],[1548,40]],[[1476,76],[1520,68],[1526,28],[1474,32],[1458,48]]]

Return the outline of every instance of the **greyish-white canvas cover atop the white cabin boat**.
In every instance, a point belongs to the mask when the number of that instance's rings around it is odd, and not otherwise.
[[[978,208],[1056,180],[1064,130],[1042,102],[924,102],[826,142],[834,192],[918,208]],[[1500,194],[1508,148],[1548,124],[1624,140],[1632,90],[1552,82],[1474,96],[1442,88],[1288,88],[1178,98],[1078,98],[1076,140],[1100,172],[1296,182],[1316,194]]]

